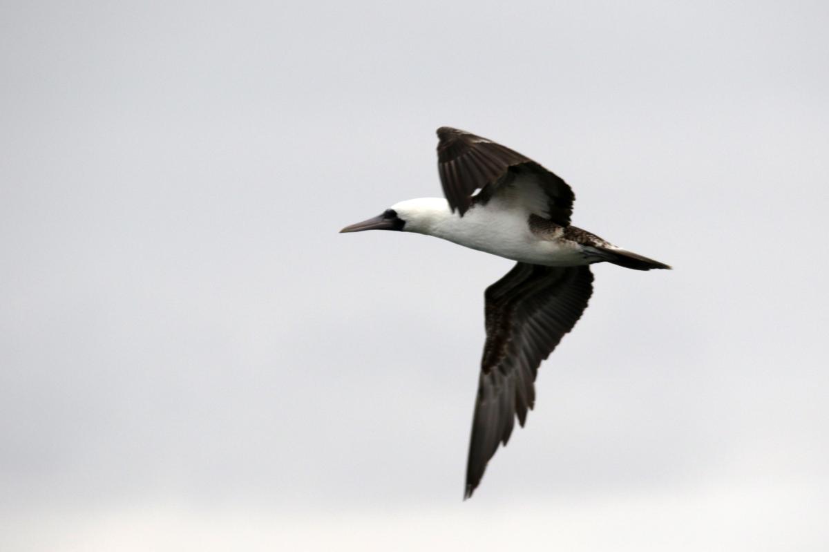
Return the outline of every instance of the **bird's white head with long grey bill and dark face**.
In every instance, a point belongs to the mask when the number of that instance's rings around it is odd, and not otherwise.
[[[434,225],[453,216],[446,200],[439,197],[421,197],[400,201],[369,220],[346,226],[341,232],[362,230],[402,230],[432,234]]]

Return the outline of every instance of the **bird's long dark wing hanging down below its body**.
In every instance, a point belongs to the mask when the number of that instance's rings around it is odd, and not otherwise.
[[[589,266],[518,263],[485,293],[487,342],[469,443],[465,497],[481,482],[500,443],[507,444],[518,416],[524,425],[536,393],[541,361],[579,320],[590,294]]]

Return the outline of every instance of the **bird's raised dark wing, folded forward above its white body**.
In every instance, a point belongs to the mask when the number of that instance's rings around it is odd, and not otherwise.
[[[463,216],[474,203],[485,203],[514,185],[527,211],[562,226],[570,224],[573,191],[530,157],[457,128],[438,128],[438,138],[440,182],[452,211],[458,209]]]

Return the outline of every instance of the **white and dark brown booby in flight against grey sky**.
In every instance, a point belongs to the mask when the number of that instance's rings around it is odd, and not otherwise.
[[[529,157],[457,128],[438,128],[446,199],[400,201],[341,232],[400,230],[434,235],[517,264],[484,293],[487,340],[469,443],[464,498],[487,462],[524,425],[541,361],[573,329],[593,292],[589,265],[670,269],[570,225],[570,186]]]

